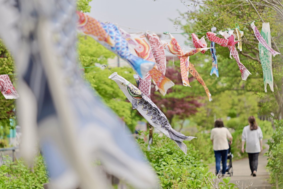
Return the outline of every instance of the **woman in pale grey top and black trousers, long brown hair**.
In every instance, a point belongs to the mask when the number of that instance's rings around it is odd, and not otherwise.
[[[242,152],[244,153],[244,145],[246,142],[246,152],[250,162],[250,170],[254,177],[258,169],[258,155],[262,151],[262,131],[256,124],[256,118],[250,116],[248,118],[249,125],[245,126],[242,133]]]

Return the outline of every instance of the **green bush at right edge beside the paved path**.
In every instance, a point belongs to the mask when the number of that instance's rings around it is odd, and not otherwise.
[[[270,170],[270,182],[275,185],[273,188],[283,188],[283,120],[276,120],[274,123],[276,130],[267,143],[267,167]]]

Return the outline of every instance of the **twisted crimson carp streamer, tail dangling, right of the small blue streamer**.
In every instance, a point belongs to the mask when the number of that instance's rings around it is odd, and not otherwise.
[[[220,33],[220,32],[219,32]],[[207,39],[209,39],[212,42],[215,42],[219,44],[220,46],[228,47],[230,50],[230,54],[234,57],[236,60],[238,67],[241,71],[241,77],[243,80],[246,80],[251,73],[246,69],[246,67],[241,63],[238,51],[236,49],[235,44],[238,43],[238,41],[235,41],[235,35],[232,34],[229,36],[227,32],[221,32],[222,36],[224,38],[216,37],[216,33],[213,33],[211,31],[206,33]]]

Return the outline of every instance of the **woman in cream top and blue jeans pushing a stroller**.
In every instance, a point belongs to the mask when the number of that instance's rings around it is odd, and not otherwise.
[[[232,135],[227,128],[224,127],[223,121],[217,119],[215,121],[214,127],[210,133],[210,139],[213,144],[213,150],[215,154],[215,166],[216,166],[216,175],[220,171],[220,161],[222,161],[222,176],[226,173],[226,164],[227,164],[227,154],[229,149],[228,140],[232,144]],[[219,173],[220,174],[220,173]]]

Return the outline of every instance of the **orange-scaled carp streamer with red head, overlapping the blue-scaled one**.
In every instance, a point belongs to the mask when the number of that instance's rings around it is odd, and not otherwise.
[[[114,46],[115,42],[111,37],[106,33],[102,28],[100,22],[95,18],[92,18],[83,12],[76,11],[78,16],[77,28],[82,31],[84,34],[93,37],[95,40],[105,41],[110,46]]]

